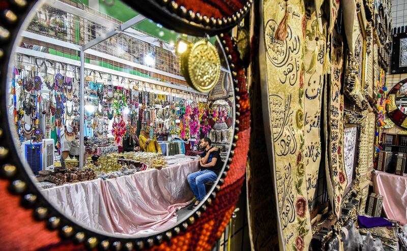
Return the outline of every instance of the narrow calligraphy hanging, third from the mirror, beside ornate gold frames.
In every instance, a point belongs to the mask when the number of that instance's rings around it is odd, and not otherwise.
[[[344,170],[343,159],[343,95],[342,80],[343,73],[343,40],[342,37],[333,30],[332,33],[332,72],[328,82],[329,93],[327,97],[327,157],[328,170],[327,177],[330,177],[328,183],[328,195],[333,213],[339,217],[341,209],[342,196],[347,184],[346,172]],[[328,175],[329,174],[329,175]]]

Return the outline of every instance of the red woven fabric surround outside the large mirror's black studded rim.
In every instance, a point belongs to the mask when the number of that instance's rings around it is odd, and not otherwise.
[[[180,1],[181,2],[181,1]],[[187,1],[185,1],[187,2]],[[201,1],[188,1],[196,3]],[[239,87],[239,140],[235,149],[235,156],[227,172],[225,182],[217,193],[213,204],[197,219],[196,223],[188,227],[187,232],[164,242],[151,250],[210,250],[221,236],[229,222],[231,214],[238,201],[243,184],[247,154],[250,139],[250,106],[246,88],[246,77],[237,59],[237,54],[230,38],[225,36],[226,46],[232,55],[235,71],[238,73]],[[7,191],[8,181],[0,180],[0,238],[2,250],[85,250],[82,245],[74,245],[70,241],[61,240],[57,231],[49,231],[44,222],[36,222],[31,209],[20,206],[20,198]]]

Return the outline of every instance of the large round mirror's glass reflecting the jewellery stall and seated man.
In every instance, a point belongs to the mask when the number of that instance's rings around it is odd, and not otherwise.
[[[217,38],[206,40],[223,62],[220,78],[199,92],[180,56],[202,38],[123,3],[99,4],[35,10],[10,66],[10,123],[27,172],[57,210],[94,231],[146,236],[185,221],[218,179],[234,87]]]

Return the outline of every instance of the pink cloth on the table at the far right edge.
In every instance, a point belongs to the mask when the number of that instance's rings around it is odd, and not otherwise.
[[[407,224],[407,176],[375,171],[374,193],[383,196],[383,210],[389,219]]]

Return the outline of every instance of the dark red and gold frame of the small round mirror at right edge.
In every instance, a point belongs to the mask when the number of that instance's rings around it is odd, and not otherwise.
[[[407,129],[407,115],[404,114],[400,109],[398,109],[396,104],[396,95],[398,90],[403,86],[403,84],[407,83],[407,78],[401,80],[393,88],[388,92],[387,99],[390,101],[386,105],[387,115],[389,118],[397,124],[399,127]]]

